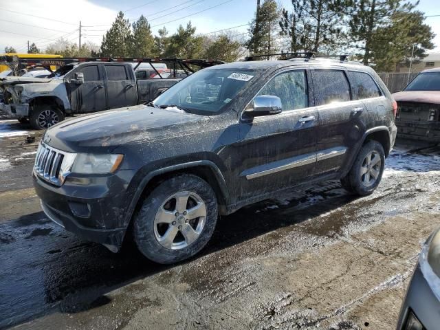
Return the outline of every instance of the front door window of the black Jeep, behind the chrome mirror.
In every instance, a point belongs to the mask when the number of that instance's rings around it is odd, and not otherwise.
[[[278,96],[281,98],[283,111],[307,108],[309,98],[305,71],[298,70],[278,74],[261,89],[257,96],[259,95]]]

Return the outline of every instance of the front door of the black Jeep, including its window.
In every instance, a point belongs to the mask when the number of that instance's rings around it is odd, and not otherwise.
[[[294,186],[313,174],[319,114],[308,108],[307,85],[304,70],[282,72],[256,94],[281,98],[283,113],[240,123],[241,199]]]

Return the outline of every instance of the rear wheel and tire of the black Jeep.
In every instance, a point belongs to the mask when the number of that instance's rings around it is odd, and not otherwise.
[[[341,179],[342,187],[355,195],[370,195],[380,184],[384,166],[384,147],[371,140],[362,146],[350,172]]]

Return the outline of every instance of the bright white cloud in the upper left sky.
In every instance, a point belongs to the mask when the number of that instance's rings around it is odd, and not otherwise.
[[[5,46],[12,46],[17,52],[27,52],[28,41],[44,49],[61,36],[78,43],[80,21],[83,25],[109,24],[116,14],[115,10],[87,0],[28,0],[25,4],[24,1],[10,0],[7,5],[3,1],[0,3],[0,52]],[[100,44],[102,37],[94,36],[98,33],[91,31],[95,29],[103,28],[83,28],[81,42]]]

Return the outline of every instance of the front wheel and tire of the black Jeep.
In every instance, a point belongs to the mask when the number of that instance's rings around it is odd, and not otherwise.
[[[176,263],[194,256],[208,243],[218,217],[211,186],[196,175],[162,181],[133,219],[133,238],[146,258]],[[197,216],[197,217],[196,217]]]

